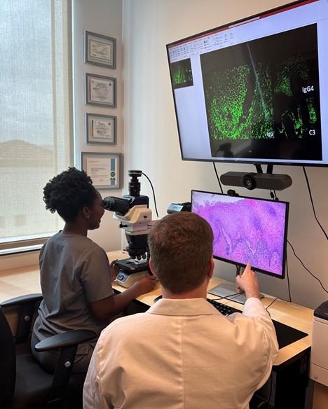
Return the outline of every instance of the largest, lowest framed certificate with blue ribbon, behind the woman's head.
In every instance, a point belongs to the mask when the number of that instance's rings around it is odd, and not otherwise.
[[[121,188],[121,153],[81,152],[81,169],[93,181],[97,190]]]

